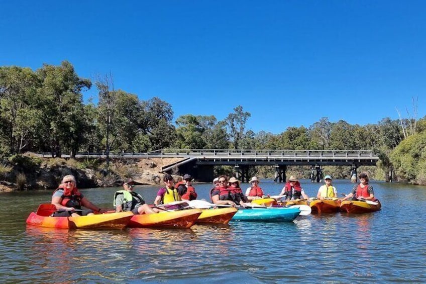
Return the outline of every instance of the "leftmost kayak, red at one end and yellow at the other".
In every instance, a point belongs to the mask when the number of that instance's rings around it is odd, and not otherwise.
[[[105,213],[79,217],[50,217],[31,212],[27,224],[58,229],[124,229],[132,212]]]

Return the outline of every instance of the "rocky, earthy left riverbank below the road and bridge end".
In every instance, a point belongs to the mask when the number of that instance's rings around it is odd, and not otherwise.
[[[53,189],[67,174],[76,177],[79,188],[121,186],[128,178],[140,185],[156,185],[161,183],[164,176],[161,168],[178,160],[180,159],[112,159],[107,169],[105,161],[100,159],[40,159],[27,155],[23,161],[13,166],[4,180],[0,180],[0,192]],[[175,175],[175,179],[178,178]]]

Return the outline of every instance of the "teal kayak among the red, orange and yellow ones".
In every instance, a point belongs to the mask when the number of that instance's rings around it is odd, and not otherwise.
[[[298,208],[240,208],[232,221],[291,222],[299,214]]]

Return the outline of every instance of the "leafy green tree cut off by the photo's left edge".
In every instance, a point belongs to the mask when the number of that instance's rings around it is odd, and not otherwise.
[[[40,80],[30,68],[0,67],[0,142],[3,151],[30,150],[41,127]]]

